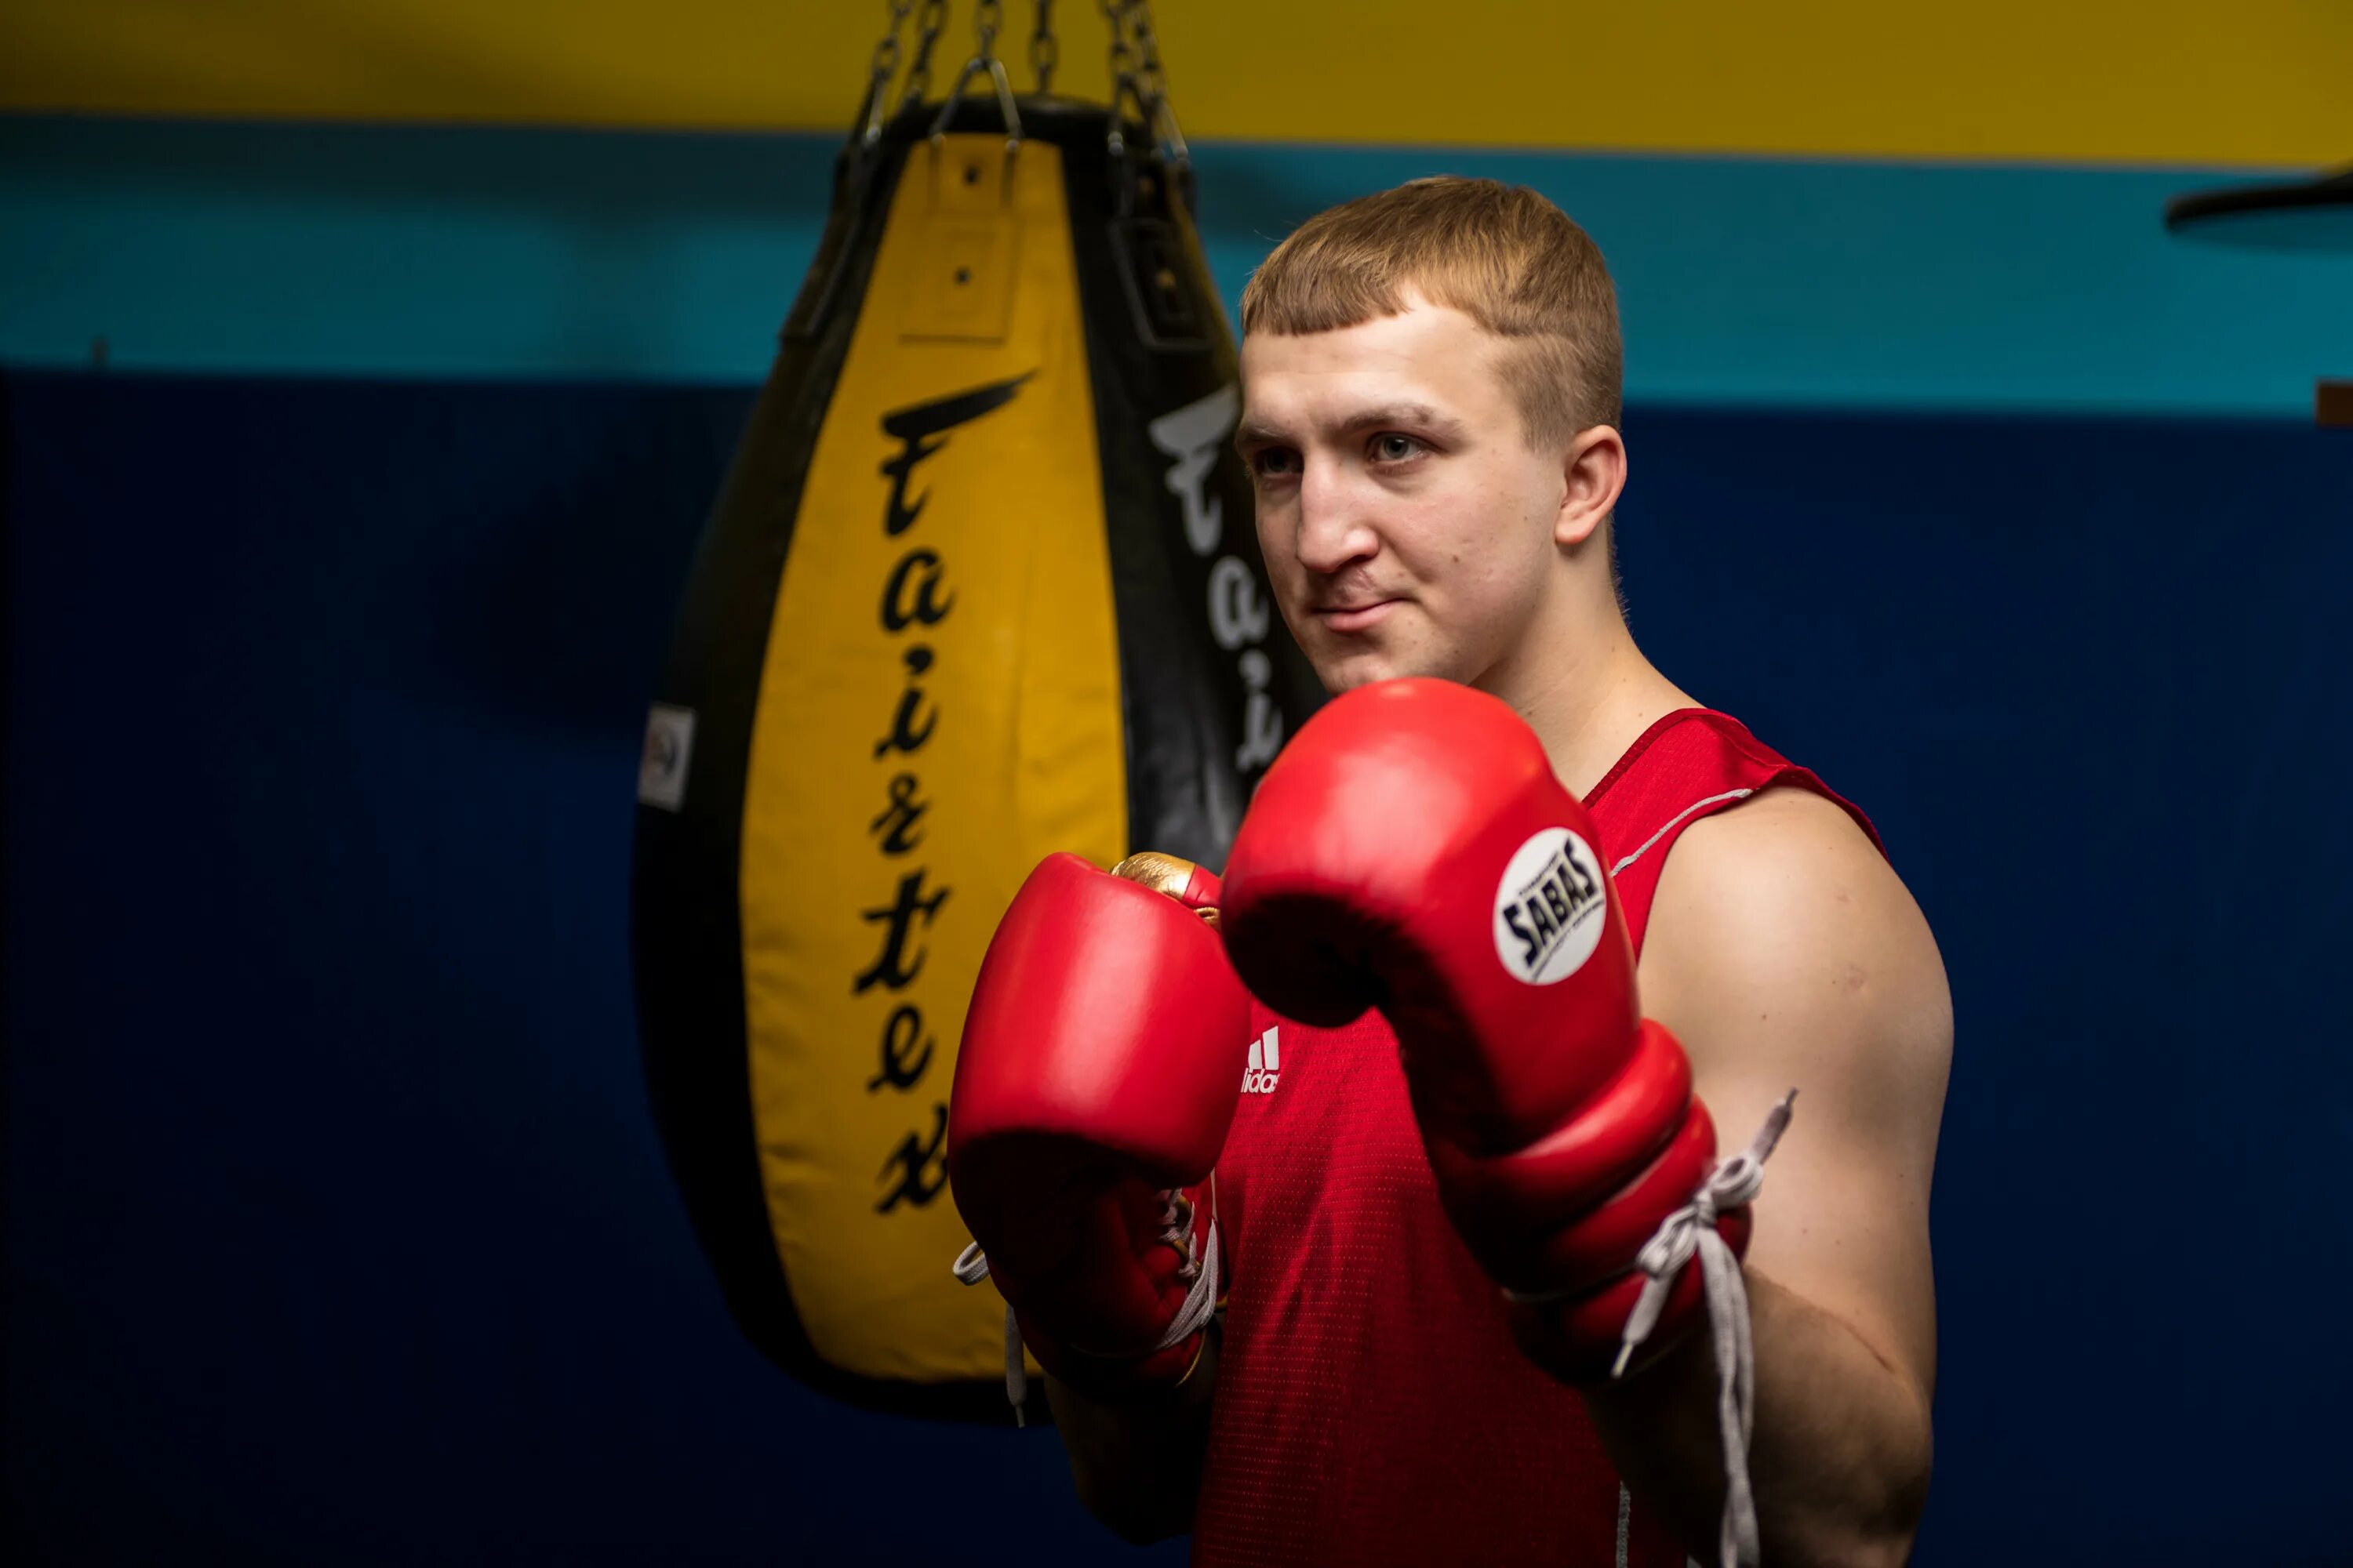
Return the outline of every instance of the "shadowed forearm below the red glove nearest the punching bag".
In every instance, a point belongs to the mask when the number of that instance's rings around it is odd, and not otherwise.
[[[1047,1378],[1078,1500],[1120,1540],[1141,1547],[1193,1528],[1214,1389],[1217,1331],[1202,1338],[1200,1361],[1165,1399],[1101,1403]]]

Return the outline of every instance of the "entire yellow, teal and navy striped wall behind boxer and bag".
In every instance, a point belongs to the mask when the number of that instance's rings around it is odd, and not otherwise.
[[[12,1561],[1127,1554],[1049,1432],[744,1342],[633,1030],[645,705],[885,12],[0,14]],[[2353,14],[1158,31],[1228,308],[1431,172],[1609,256],[1635,635],[1953,978],[1918,1561],[2346,1561],[2353,256],[2162,209],[2353,155]]]

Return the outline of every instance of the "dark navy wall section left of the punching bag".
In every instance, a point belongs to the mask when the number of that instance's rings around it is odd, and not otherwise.
[[[1052,1432],[760,1361],[661,1164],[638,738],[748,393],[0,388],[9,1556],[1108,1542]]]

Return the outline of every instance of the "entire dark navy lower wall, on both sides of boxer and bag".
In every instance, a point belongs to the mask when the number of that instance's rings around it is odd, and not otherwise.
[[[661,1168],[633,764],[751,393],[0,393],[12,1559],[1118,1552],[1052,1434],[758,1361]],[[1638,637],[1953,973],[1918,1561],[2329,1561],[2353,437],[1628,440]]]

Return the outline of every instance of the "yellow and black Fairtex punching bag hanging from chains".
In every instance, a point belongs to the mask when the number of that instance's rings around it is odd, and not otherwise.
[[[635,971],[744,1333],[868,1408],[1005,1420],[1002,1305],[951,1276],[941,1168],[981,952],[1047,851],[1221,865],[1318,689],[1228,444],[1235,353],[1148,19],[1106,7],[1111,110],[1014,99],[993,5],[925,103],[939,9],[892,115],[878,52],[694,557]]]

